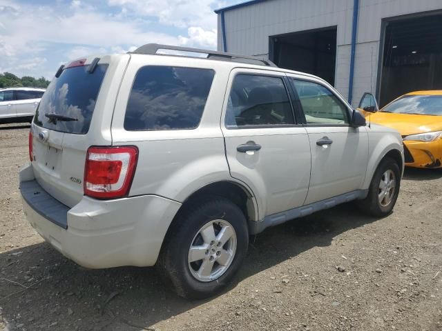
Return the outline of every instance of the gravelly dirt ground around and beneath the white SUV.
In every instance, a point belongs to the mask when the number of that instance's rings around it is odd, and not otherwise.
[[[28,131],[0,126],[0,329],[442,330],[442,170],[406,170],[385,219],[348,203],[266,230],[231,288],[186,301],[155,268],[87,270],[42,241],[18,190]]]

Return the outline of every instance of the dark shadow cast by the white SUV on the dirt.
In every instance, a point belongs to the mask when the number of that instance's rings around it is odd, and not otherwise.
[[[248,258],[227,291],[253,274],[316,246],[331,245],[336,235],[373,221],[347,203],[269,228],[251,237]],[[0,268],[0,314],[11,330],[46,330],[48,325],[54,330],[151,330],[151,325],[211,300],[177,297],[155,268],[81,268],[47,243],[0,254]],[[11,281],[35,285],[23,288]]]

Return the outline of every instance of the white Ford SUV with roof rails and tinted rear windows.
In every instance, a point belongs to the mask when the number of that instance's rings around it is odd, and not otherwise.
[[[398,132],[323,79],[155,44],[61,66],[29,157],[20,190],[41,237],[87,268],[157,265],[194,298],[269,226],[347,201],[390,213],[403,173]]]

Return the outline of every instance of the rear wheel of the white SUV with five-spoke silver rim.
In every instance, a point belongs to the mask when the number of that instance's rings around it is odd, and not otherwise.
[[[213,197],[184,207],[171,225],[158,260],[160,272],[181,297],[202,299],[220,292],[247,254],[243,212]]]

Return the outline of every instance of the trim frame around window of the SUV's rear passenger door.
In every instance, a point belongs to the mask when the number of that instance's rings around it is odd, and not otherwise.
[[[261,76],[261,77],[271,77],[271,78],[279,78],[282,80],[282,84],[284,85],[285,88],[285,92],[287,93],[287,98],[289,99],[289,104],[290,104],[290,109],[291,109],[291,116],[293,117],[293,124],[265,124],[262,126],[259,125],[246,125],[246,126],[228,126],[226,121],[227,121],[227,111],[229,108],[229,97],[230,97],[230,92],[233,88],[233,83],[235,82],[235,79],[238,75],[247,75],[247,76]],[[300,126],[302,126],[302,123],[300,123],[300,121],[298,121],[298,118],[296,117],[296,112],[294,111],[294,104],[291,100],[291,95],[290,95],[290,88],[289,88],[289,81],[287,81],[287,76],[285,75],[285,72],[281,72],[281,74],[273,74],[273,73],[269,73],[269,72],[242,72],[242,71],[238,71],[235,72],[233,74],[233,77],[231,79],[232,83],[230,85],[230,90],[229,93],[226,93],[226,97],[227,99],[227,107],[224,113],[224,128],[226,128],[227,130],[247,130],[247,129],[278,129],[278,128],[299,128]]]

